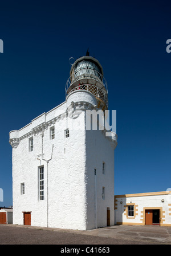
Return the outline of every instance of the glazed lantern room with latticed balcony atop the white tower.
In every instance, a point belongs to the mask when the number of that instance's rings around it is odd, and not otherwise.
[[[66,83],[66,97],[76,90],[92,93],[103,105],[102,109],[108,109],[108,88],[103,69],[99,61],[89,56],[88,52],[71,66],[70,78]]]

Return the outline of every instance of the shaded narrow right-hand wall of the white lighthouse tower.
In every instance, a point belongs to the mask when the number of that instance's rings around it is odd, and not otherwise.
[[[86,131],[86,148],[87,229],[107,226],[107,207],[110,209],[112,226],[114,225],[114,151],[102,131]]]

